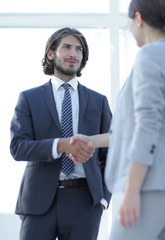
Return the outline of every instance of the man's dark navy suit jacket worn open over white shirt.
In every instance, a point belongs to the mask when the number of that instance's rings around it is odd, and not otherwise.
[[[78,133],[108,132],[111,112],[107,98],[78,84]],[[57,190],[61,159],[52,158],[54,138],[62,137],[52,85],[48,83],[20,94],[11,122],[10,151],[17,161],[27,161],[16,205],[17,214],[47,212]],[[83,164],[94,205],[111,194],[104,183],[107,148],[96,150]]]

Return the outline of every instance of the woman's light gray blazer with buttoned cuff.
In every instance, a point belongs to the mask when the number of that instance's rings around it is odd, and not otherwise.
[[[110,130],[107,188],[122,191],[131,162],[148,165],[142,190],[165,191],[165,38],[138,52]]]

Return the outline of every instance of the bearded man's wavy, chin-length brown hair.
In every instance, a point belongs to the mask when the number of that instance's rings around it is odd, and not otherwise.
[[[47,75],[54,74],[54,64],[53,64],[53,60],[50,60],[47,56],[48,50],[50,49],[53,52],[55,52],[61,42],[61,39],[65,36],[69,36],[69,35],[72,35],[72,36],[75,36],[76,38],[78,38],[82,44],[83,59],[82,59],[80,68],[76,74],[77,77],[81,76],[81,70],[85,67],[86,62],[88,60],[89,49],[88,49],[88,44],[86,42],[85,37],[82,35],[81,32],[79,32],[77,29],[74,29],[74,28],[59,29],[55,33],[53,33],[51,35],[51,37],[48,39],[46,48],[45,48],[45,56],[42,59],[42,66],[43,66],[43,71],[45,74],[47,74]]]

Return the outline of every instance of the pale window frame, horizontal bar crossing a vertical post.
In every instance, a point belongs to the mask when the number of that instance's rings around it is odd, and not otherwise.
[[[110,101],[112,111],[120,90],[119,30],[128,28],[119,1],[109,0],[108,13],[0,13],[0,28],[107,28],[110,32]]]

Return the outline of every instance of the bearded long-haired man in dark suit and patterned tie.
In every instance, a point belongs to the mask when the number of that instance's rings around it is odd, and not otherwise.
[[[63,84],[69,83],[73,134],[109,130],[107,98],[77,81],[87,60],[84,36],[76,29],[58,30],[48,39],[42,60],[44,73],[52,78],[19,96],[10,150],[15,160],[27,161],[16,205],[21,240],[97,239],[102,211],[111,196],[104,183],[107,149],[93,153],[92,146],[83,142],[71,145],[61,127]],[[71,173],[63,170],[64,152],[76,156],[78,163],[72,164]]]

